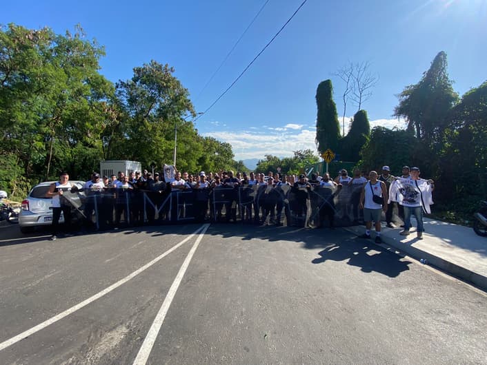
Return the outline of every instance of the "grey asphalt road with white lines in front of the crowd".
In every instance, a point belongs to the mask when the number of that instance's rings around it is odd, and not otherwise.
[[[47,239],[0,227],[0,364],[487,364],[486,293],[341,229]]]

